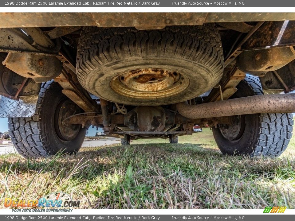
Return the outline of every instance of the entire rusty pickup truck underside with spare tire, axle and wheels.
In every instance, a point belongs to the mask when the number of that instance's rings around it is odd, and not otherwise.
[[[224,154],[279,156],[295,112],[295,13],[0,13],[0,117],[24,157],[210,126]]]

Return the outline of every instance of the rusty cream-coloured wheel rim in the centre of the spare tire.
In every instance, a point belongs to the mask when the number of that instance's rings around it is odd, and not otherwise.
[[[159,68],[136,69],[111,80],[111,88],[117,94],[141,99],[173,96],[189,86],[189,79],[179,72]]]

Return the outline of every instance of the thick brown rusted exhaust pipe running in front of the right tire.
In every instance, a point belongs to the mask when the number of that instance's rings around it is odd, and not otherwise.
[[[179,114],[192,119],[243,114],[293,113],[295,94],[254,95],[196,105],[182,102],[177,103],[176,108]]]

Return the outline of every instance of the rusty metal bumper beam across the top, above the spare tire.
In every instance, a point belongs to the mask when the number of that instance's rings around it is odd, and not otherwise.
[[[2,28],[91,26],[159,29],[205,22],[295,20],[295,13],[0,13]],[[148,24],[148,25],[147,25]]]

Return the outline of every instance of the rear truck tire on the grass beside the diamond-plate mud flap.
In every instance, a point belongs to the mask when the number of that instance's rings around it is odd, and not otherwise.
[[[62,120],[74,113],[82,113],[82,110],[61,90],[56,82],[42,83],[35,114],[27,118],[8,118],[12,143],[23,157],[47,157],[79,151],[86,128],[67,125]]]

